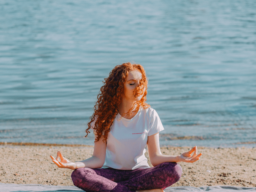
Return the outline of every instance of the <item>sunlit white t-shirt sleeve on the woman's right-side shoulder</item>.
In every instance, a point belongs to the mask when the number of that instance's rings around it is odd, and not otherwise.
[[[149,125],[149,130],[148,130],[148,136],[154,135],[163,130],[164,130],[164,127],[160,120],[160,117],[156,113],[156,110],[153,109],[151,116],[150,116],[150,125]]]

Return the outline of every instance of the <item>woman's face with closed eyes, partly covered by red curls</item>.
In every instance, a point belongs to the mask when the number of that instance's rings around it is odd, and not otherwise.
[[[124,83],[124,94],[123,99],[132,100],[132,101],[139,101],[144,95],[145,87],[141,92],[141,95],[137,97],[134,96],[133,91],[136,91],[136,86],[140,84],[140,80],[142,78],[142,74],[139,70],[131,70],[128,72],[128,75],[125,79]]]

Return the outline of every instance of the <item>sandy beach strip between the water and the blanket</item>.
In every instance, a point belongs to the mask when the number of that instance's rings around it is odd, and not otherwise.
[[[164,155],[179,155],[188,149],[162,147],[161,151]],[[72,170],[58,168],[50,158],[50,155],[56,156],[57,151],[70,161],[81,161],[92,156],[93,146],[0,143],[0,182],[73,185]],[[173,187],[256,187],[256,148],[198,147],[198,153],[203,153],[199,161],[180,163],[183,174]]]

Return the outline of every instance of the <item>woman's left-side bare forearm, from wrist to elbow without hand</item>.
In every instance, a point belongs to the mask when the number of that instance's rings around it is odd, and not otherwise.
[[[88,159],[85,159],[83,161],[75,162],[76,169],[81,167],[88,167],[91,169],[101,168],[104,164],[104,161],[96,156],[92,156]]]

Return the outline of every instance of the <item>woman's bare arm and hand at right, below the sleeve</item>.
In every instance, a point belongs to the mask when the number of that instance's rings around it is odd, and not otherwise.
[[[202,153],[197,155],[197,148],[194,147],[190,151],[182,153],[178,156],[169,156],[169,155],[163,155],[160,150],[159,145],[159,133],[156,133],[154,135],[148,136],[148,156],[150,163],[153,166],[156,166],[158,164],[164,163],[164,162],[189,162],[194,163],[197,160],[199,160],[199,157],[202,155]],[[194,155],[191,156],[191,154],[194,152]]]

